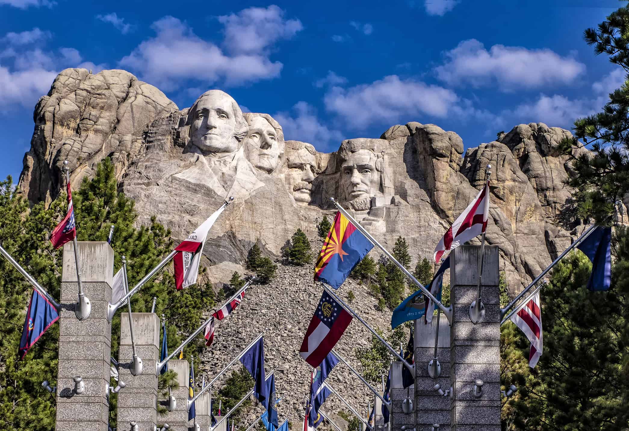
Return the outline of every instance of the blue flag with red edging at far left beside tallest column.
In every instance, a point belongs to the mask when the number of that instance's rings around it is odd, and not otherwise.
[[[57,308],[33,288],[31,302],[26,309],[26,319],[22,328],[22,338],[19,340],[18,354],[23,359],[33,344],[43,336],[43,333],[59,319]]]

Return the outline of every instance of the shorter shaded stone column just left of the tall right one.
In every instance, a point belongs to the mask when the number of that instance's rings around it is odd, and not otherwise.
[[[450,398],[434,390],[440,384],[443,390],[450,388],[450,326],[445,315],[439,319],[439,339],[437,359],[441,364],[441,374],[435,379],[428,374],[428,363],[435,354],[435,332],[437,316],[430,324],[424,324],[423,317],[415,320],[415,415],[416,431],[432,431],[433,423],[441,430],[450,428]]]

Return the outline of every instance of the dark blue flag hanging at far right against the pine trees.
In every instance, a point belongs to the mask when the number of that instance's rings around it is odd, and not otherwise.
[[[611,284],[611,227],[596,227],[577,248],[592,261],[587,288],[608,290]]]

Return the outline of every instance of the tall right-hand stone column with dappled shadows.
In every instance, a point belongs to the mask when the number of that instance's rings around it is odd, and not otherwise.
[[[454,322],[450,329],[450,384],[454,400],[452,431],[500,431],[500,313],[498,247],[485,246],[481,298],[485,320],[472,324],[469,307],[476,300],[480,246],[452,251],[450,282]],[[454,271],[453,271],[454,268]],[[479,398],[474,381],[484,381]],[[443,385],[442,385],[443,386]],[[445,388],[444,388],[445,390]]]

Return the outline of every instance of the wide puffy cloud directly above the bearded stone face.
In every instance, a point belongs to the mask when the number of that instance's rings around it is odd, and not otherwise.
[[[374,123],[395,123],[420,114],[444,118],[453,112],[466,115],[471,112],[469,103],[454,91],[417,80],[402,80],[397,75],[348,89],[332,87],[324,102],[327,111],[337,114],[354,129]]]

